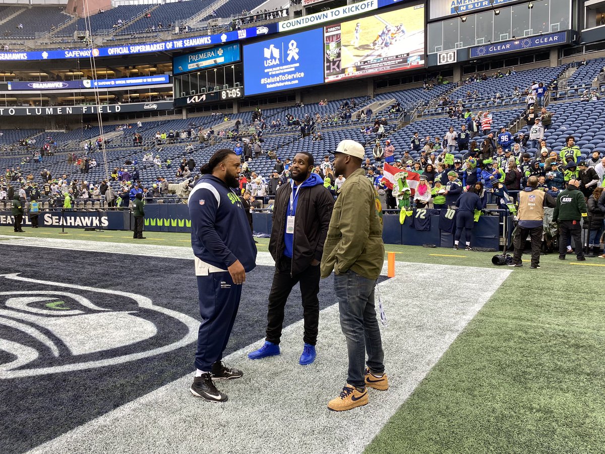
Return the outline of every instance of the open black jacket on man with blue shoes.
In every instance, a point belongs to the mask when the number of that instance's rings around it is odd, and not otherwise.
[[[325,237],[328,234],[334,197],[322,185],[299,189],[296,203],[296,222],[292,248],[292,275],[305,271],[313,258],[321,262]],[[292,187],[281,185],[275,196],[273,206],[273,226],[269,240],[269,252],[280,269],[280,258],[284,255],[284,231],[286,229],[286,211],[290,203]]]

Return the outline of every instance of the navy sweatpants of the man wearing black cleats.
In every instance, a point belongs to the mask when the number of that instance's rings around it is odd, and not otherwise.
[[[235,285],[229,272],[197,277],[200,315],[195,368],[210,372],[212,364],[223,359],[231,330],[240,307],[241,285]]]

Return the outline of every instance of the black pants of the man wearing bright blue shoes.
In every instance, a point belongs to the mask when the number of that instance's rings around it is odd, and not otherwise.
[[[269,310],[267,311],[267,341],[279,344],[284,324],[286,301],[296,283],[300,283],[302,296],[302,315],[304,317],[303,341],[315,345],[319,325],[319,265],[309,266],[299,274],[290,276],[292,259],[281,257],[280,265],[284,271],[275,268],[273,284],[269,292]]]

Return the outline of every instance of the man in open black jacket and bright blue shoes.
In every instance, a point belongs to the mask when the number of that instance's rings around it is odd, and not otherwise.
[[[313,171],[313,155],[296,153],[290,165],[290,184],[281,185],[275,196],[269,252],[275,260],[269,293],[267,337],[251,360],[280,354],[284,308],[292,288],[299,283],[304,317],[304,346],[299,364],[315,361],[319,324],[319,263],[330,226],[334,197]]]

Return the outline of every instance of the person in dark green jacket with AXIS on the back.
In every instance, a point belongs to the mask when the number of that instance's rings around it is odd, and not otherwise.
[[[567,188],[559,192],[557,206],[552,214],[552,221],[559,224],[559,260],[565,260],[566,247],[570,236],[574,239],[577,259],[580,262],[586,260],[582,247],[580,220],[587,217],[588,212],[584,194],[578,190],[579,186],[579,180],[569,180]]]

